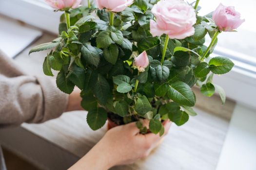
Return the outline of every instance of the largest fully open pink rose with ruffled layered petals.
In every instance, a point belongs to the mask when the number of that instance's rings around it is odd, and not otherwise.
[[[152,8],[156,21],[150,20],[153,36],[168,34],[171,39],[184,39],[195,34],[195,9],[183,0],[160,0]]]

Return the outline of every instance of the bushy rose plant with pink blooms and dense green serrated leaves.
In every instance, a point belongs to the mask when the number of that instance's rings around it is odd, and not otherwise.
[[[234,7],[219,5],[214,13],[197,15],[195,5],[183,0],[96,0],[98,6],[78,6],[80,0],[46,0],[64,11],[59,37],[31,52],[54,49],[44,60],[43,71],[53,76],[67,94],[75,86],[81,105],[88,110],[93,130],[107,119],[120,125],[150,120],[149,130],[163,134],[161,121],[178,126],[196,116],[197,85],[203,95],[215,91],[225,102],[224,90],[213,83],[214,74],[229,72],[234,63],[225,57],[209,57],[217,35],[233,31],[244,20]],[[205,36],[212,38],[205,46]]]

